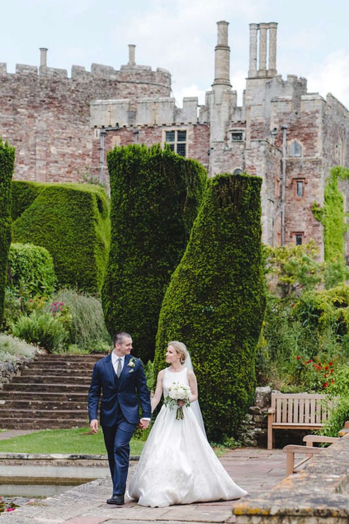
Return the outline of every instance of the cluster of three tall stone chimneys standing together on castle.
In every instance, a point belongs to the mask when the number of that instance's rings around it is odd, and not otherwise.
[[[277,37],[276,22],[269,24],[250,24],[250,62],[248,78],[260,77],[274,77],[277,74],[276,70],[276,37]],[[259,56],[257,68],[257,41],[259,32]],[[268,35],[269,32],[269,35]],[[269,38],[268,38],[269,36]],[[268,49],[269,41],[269,49]],[[267,69],[267,54],[268,55],[268,69]]]

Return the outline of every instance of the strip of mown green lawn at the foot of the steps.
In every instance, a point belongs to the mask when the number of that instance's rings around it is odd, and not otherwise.
[[[105,455],[103,433],[90,434],[90,428],[43,430],[0,441],[0,453],[84,453]],[[131,440],[131,455],[140,455],[144,442]]]

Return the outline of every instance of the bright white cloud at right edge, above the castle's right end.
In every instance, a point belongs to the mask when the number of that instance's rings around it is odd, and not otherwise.
[[[349,51],[338,50],[327,54],[321,63],[313,65],[306,77],[308,91],[322,96],[332,93],[349,107]]]

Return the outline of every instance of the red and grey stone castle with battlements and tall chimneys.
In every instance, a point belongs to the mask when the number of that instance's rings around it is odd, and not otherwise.
[[[84,172],[108,183],[105,156],[114,146],[165,142],[195,158],[209,176],[247,171],[262,177],[263,241],[302,244],[314,238],[323,257],[323,203],[331,167],[349,168],[349,112],[331,94],[308,93],[306,80],[277,74],[277,24],[250,24],[250,57],[242,106],[230,84],[228,23],[219,21],[215,76],[204,105],[171,97],[168,71],[129,63],[120,71],[92,64],[39,69],[0,63],[0,136],[16,147],[15,179],[77,181]],[[342,182],[346,196],[349,189]],[[349,244],[346,246],[349,254]]]

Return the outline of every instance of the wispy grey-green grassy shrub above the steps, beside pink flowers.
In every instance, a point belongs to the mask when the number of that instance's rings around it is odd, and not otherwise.
[[[55,313],[55,318],[63,323],[69,332],[70,344],[89,353],[110,351],[111,340],[105,328],[101,303],[97,298],[74,289],[60,289],[45,305],[44,311]],[[65,311],[68,314],[64,314]]]

